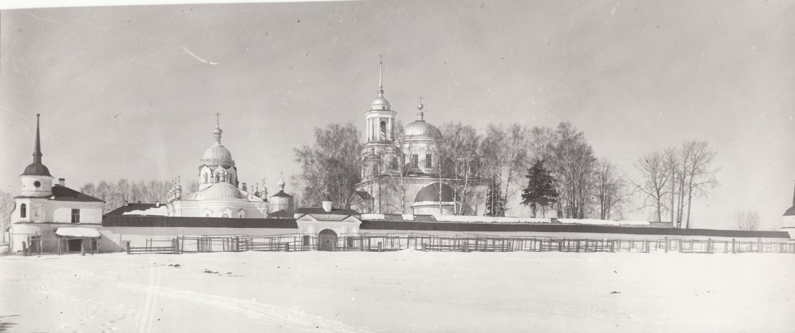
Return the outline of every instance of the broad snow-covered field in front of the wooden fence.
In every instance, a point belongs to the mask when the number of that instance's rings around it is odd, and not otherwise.
[[[0,258],[0,331],[795,331],[795,255]]]

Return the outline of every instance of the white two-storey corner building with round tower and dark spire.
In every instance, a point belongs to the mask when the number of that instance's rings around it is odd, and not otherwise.
[[[66,187],[64,178],[52,185],[49,169],[41,163],[39,115],[36,121],[36,143],[33,163],[19,176],[20,195],[14,198],[9,229],[11,251],[21,251],[21,243],[37,243],[36,239],[55,239],[56,232],[68,233],[70,228],[99,228],[102,226],[104,201]],[[82,229],[81,229],[82,230]],[[99,235],[99,232],[96,233]],[[30,242],[34,240],[33,242]],[[66,239],[61,251],[80,251],[81,239]],[[56,242],[46,242],[44,251],[57,251]]]

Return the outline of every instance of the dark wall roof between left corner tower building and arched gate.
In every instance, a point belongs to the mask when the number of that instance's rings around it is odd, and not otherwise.
[[[283,228],[297,229],[295,219],[234,219],[229,217],[103,216],[103,227],[145,228]]]

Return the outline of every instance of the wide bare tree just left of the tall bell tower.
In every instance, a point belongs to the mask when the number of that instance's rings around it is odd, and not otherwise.
[[[328,189],[338,208],[349,209],[354,186],[361,179],[359,130],[354,124],[315,128],[315,143],[295,150],[301,164],[302,205],[316,206]]]

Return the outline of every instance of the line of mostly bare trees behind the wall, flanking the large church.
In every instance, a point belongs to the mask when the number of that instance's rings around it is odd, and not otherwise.
[[[401,128],[398,124],[396,137]],[[487,124],[483,133],[460,122],[445,123],[440,131],[444,139],[436,151],[437,176],[452,187],[456,214],[484,203],[485,215],[505,216],[518,208],[512,205],[521,195],[532,216],[554,212],[557,217],[617,220],[628,212],[653,211],[649,220],[690,228],[693,199],[719,184],[717,152],[707,141],[685,141],[644,155],[634,164],[637,176],[630,177],[607,157],[596,156],[584,132],[568,121],[555,128]],[[411,164],[401,156],[397,166],[382,161],[397,172],[361,172],[360,137],[354,124],[328,124],[315,128],[313,144],[295,149],[301,165],[295,179],[300,205],[319,205],[328,191],[336,207],[350,208],[355,184],[378,174],[389,175],[378,186],[397,190],[401,197]],[[478,182],[487,184],[485,191],[477,190]],[[402,209],[405,200],[402,196],[404,202],[395,206]]]

